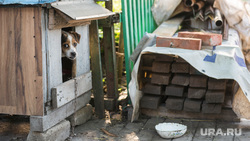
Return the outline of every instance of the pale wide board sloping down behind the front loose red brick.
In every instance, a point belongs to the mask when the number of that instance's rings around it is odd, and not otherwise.
[[[163,22],[153,33],[158,36],[172,37],[178,30],[183,20],[184,16],[167,20]]]

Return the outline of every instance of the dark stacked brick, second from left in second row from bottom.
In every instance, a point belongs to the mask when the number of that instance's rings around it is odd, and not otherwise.
[[[168,85],[166,86],[165,95],[183,97],[184,88],[183,86]]]

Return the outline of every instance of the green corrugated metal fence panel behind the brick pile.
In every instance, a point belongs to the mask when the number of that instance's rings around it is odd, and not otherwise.
[[[129,60],[129,57],[143,35],[146,32],[152,33],[157,25],[151,12],[154,0],[122,0],[121,2],[126,79],[129,83],[133,68],[133,63]]]

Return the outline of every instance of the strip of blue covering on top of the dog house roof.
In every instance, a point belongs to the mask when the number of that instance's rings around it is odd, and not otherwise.
[[[51,3],[56,0],[0,0],[0,5],[7,5],[7,4],[44,4],[44,3]]]

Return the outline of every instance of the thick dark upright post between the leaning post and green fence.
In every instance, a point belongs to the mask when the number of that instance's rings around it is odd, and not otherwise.
[[[112,11],[112,0],[106,1],[105,6]],[[114,98],[115,110],[117,109],[118,98],[118,80],[116,71],[116,51],[115,51],[115,39],[114,39],[114,25],[110,27],[103,27],[103,48],[104,58],[106,63],[106,81],[107,81],[107,97]]]

